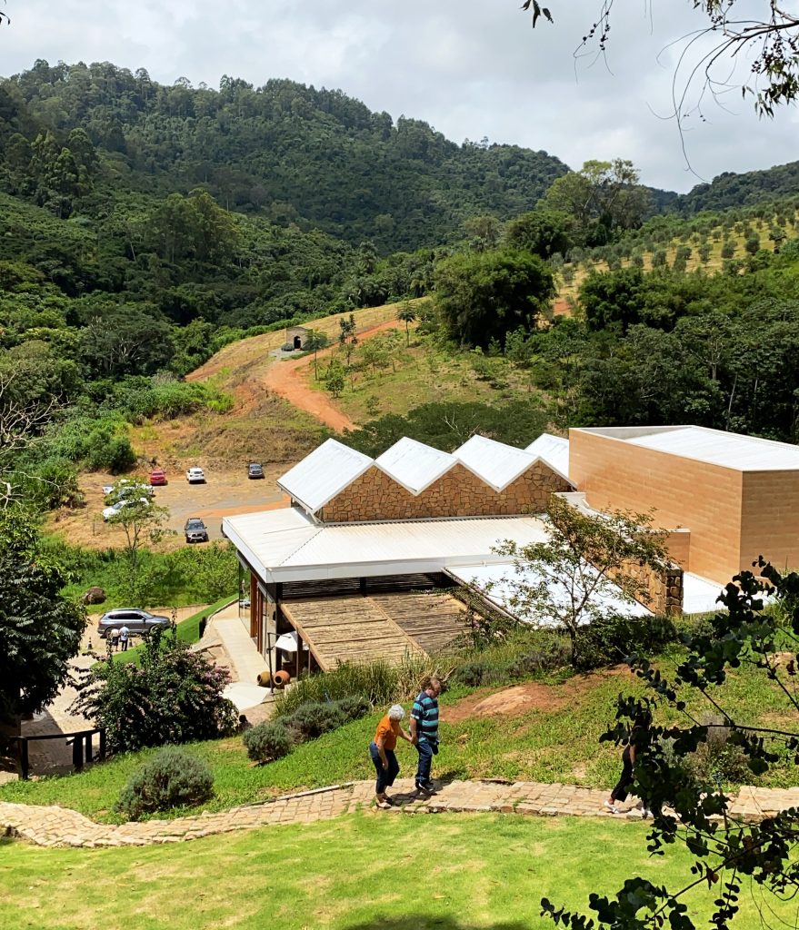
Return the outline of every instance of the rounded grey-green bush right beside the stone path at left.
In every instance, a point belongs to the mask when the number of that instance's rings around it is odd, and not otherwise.
[[[191,752],[167,746],[133,773],[115,809],[138,820],[144,814],[202,804],[212,793],[209,764]]]

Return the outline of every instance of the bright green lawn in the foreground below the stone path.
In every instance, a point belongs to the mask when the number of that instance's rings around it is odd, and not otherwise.
[[[577,817],[370,812],[132,849],[0,840],[0,930],[553,927],[541,897],[588,910],[589,893],[613,894],[633,874],[681,886],[689,855],[647,857],[645,832]],[[759,916],[742,887],[735,925],[749,930]],[[686,899],[695,922],[713,897],[701,887]]]

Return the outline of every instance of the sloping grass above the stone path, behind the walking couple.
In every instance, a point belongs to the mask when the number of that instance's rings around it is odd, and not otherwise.
[[[673,658],[667,654],[658,664],[664,671],[670,671]],[[614,718],[616,696],[622,691],[638,690],[637,680],[626,671],[603,671],[562,682],[528,682],[521,686],[528,693],[529,702],[521,710],[504,716],[478,716],[471,712],[479,698],[499,691],[498,687],[477,693],[459,688],[442,698],[442,742],[433,767],[434,776],[505,777],[612,787],[618,776],[620,753],[612,744],[600,744],[599,737]],[[767,719],[770,725],[782,721],[782,699],[775,687],[763,681],[763,676],[741,669],[731,676],[727,690],[726,705],[739,713],[742,720]],[[697,713],[703,710],[698,703],[692,702],[691,706]],[[209,762],[214,773],[215,796],[205,809],[222,810],[291,790],[371,778],[373,768],[367,746],[379,716],[375,713],[347,724],[299,746],[278,762],[263,766],[251,764],[240,737],[194,744],[193,751]],[[133,770],[152,752],[118,756],[83,773],[10,782],[0,788],[0,799],[61,804],[89,817],[119,820],[112,810],[119,792]],[[415,753],[402,743],[399,758],[403,772],[409,774]],[[795,766],[786,764],[775,767],[759,783],[783,787],[794,779]],[[747,780],[758,781],[753,776]]]

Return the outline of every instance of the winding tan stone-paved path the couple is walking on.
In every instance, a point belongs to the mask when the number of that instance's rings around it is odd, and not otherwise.
[[[287,795],[275,801],[248,804],[216,814],[149,820],[120,826],[99,824],[64,807],[9,804],[0,801],[0,835],[17,836],[40,846],[143,846],[196,840],[215,833],[250,830],[285,823],[314,823],[352,813],[372,802],[374,783],[357,781],[316,791]],[[577,785],[519,781],[453,781],[432,797],[420,799],[411,779],[394,786],[395,807],[385,816],[401,812],[437,814],[500,812],[528,816],[614,817],[603,809],[607,791]],[[746,819],[776,814],[799,806],[799,788],[787,790],[744,787],[738,791],[732,813]],[[375,813],[384,816],[382,811]],[[641,817],[633,804],[622,815]]]

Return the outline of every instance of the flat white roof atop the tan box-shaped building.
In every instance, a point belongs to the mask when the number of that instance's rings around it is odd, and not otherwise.
[[[587,432],[591,432],[590,430]],[[630,445],[657,449],[673,456],[695,458],[737,472],[792,472],[799,470],[799,445],[743,436],[738,432],[709,430],[701,426],[652,429],[629,438],[613,430],[602,435],[619,438]]]

